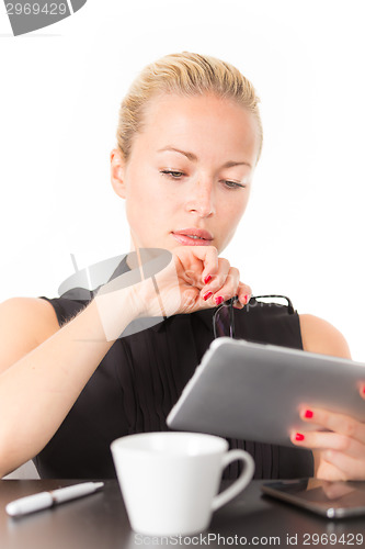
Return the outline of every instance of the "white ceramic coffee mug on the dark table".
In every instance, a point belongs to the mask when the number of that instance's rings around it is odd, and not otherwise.
[[[144,433],[114,440],[114,464],[132,528],[149,536],[187,536],[205,530],[212,513],[241,492],[254,462],[243,450],[228,450],[224,438],[198,433]],[[221,472],[243,462],[224,492]]]

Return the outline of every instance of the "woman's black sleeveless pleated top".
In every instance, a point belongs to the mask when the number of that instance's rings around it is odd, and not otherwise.
[[[89,301],[84,295],[75,295],[77,292],[70,291],[59,299],[43,298],[54,306],[60,326],[90,301],[90,294]],[[277,304],[254,305],[233,310],[237,338],[303,349],[296,312],[288,314],[286,306]],[[169,430],[166,418],[214,338],[214,312],[210,309],[178,314],[117,339],[54,437],[34,458],[41,478],[114,478],[110,450],[113,440],[135,433]],[[255,479],[313,474],[312,453],[308,450],[227,440],[230,448],[252,455]],[[225,477],[236,478],[239,467],[237,462],[229,466]]]

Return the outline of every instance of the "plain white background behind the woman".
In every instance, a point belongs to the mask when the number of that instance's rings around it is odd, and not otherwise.
[[[365,361],[363,1],[88,0],[13,37],[0,12],[0,301],[57,296],[79,267],[128,250],[109,155],[137,72],[206,53],[252,80],[263,156],[225,256],[254,293],[327,318]]]

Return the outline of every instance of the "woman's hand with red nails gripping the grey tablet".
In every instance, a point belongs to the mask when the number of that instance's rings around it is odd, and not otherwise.
[[[361,385],[360,394],[365,400],[365,383]],[[319,450],[317,478],[328,481],[365,480],[365,423],[315,407],[301,410],[300,417],[330,429],[304,430],[290,436],[296,446],[310,448],[315,453]]]

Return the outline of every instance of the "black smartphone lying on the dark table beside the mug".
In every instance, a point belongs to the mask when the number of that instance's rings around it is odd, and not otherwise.
[[[365,515],[365,482],[296,479],[267,482],[261,490],[329,518]]]

